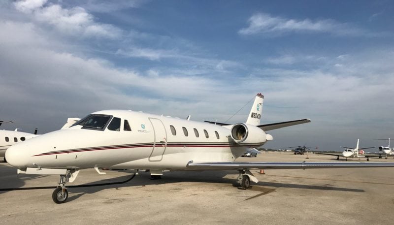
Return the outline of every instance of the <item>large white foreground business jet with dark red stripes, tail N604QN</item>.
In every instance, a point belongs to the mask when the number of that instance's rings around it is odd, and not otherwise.
[[[259,125],[263,95],[258,94],[246,123],[210,124],[128,110],[89,114],[70,128],[53,131],[11,146],[5,153],[18,173],[58,174],[56,203],[68,197],[66,183],[80,169],[145,169],[160,176],[164,170],[239,171],[237,182],[248,188],[258,182],[249,169],[387,167],[394,163],[235,162],[245,150],[272,140],[266,131],[309,119]]]

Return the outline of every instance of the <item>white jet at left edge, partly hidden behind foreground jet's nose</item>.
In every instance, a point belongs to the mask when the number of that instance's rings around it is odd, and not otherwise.
[[[68,118],[66,124],[62,127],[62,129],[68,128],[73,125],[75,122],[80,120],[79,118]],[[13,123],[13,121],[3,122],[0,121],[1,124]],[[18,142],[25,141],[27,139],[33,138],[37,136],[37,129],[34,130],[34,133],[27,133],[15,130],[0,130],[0,157],[3,157],[4,162],[7,162],[5,157],[5,151],[11,146]]]

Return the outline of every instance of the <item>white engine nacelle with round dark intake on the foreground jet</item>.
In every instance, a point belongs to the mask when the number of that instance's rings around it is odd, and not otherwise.
[[[253,125],[239,123],[232,126],[231,138],[240,145],[256,147],[263,145],[267,139],[272,139],[272,136],[269,135],[267,138],[264,130]]]

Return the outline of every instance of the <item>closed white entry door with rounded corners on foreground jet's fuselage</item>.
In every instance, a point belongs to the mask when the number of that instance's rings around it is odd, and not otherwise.
[[[161,120],[157,118],[149,118],[149,121],[152,124],[155,134],[153,149],[151,155],[149,156],[149,161],[161,161],[163,160],[164,151],[167,147],[167,133]],[[160,157],[158,158],[158,156]]]

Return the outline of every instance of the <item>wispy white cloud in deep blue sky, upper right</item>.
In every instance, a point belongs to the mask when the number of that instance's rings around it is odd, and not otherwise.
[[[242,28],[239,34],[270,34],[281,35],[285,32],[326,32],[333,35],[369,35],[365,31],[334,20],[310,19],[296,20],[282,17],[272,17],[269,14],[258,13],[249,18],[249,27]]]

